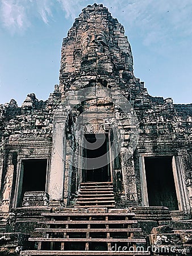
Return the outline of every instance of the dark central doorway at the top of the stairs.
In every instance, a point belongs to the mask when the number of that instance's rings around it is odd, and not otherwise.
[[[105,182],[111,181],[110,175],[110,164],[109,164],[109,154],[108,154],[108,134],[85,134],[84,135],[84,158],[85,169],[82,170],[82,181],[83,182]],[[93,148],[90,146],[87,147],[86,143],[93,143]],[[100,143],[101,142],[101,143]],[[98,146],[97,144],[98,143]],[[96,146],[95,146],[96,145]],[[97,163],[101,161],[99,159],[100,156],[102,158],[102,166],[97,168]],[[94,159],[95,164],[91,160]],[[91,166],[90,166],[91,164]]]

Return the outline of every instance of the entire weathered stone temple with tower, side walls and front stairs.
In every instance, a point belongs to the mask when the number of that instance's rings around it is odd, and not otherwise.
[[[192,105],[152,97],[87,6],[47,101],[0,105],[0,255],[192,255]]]

